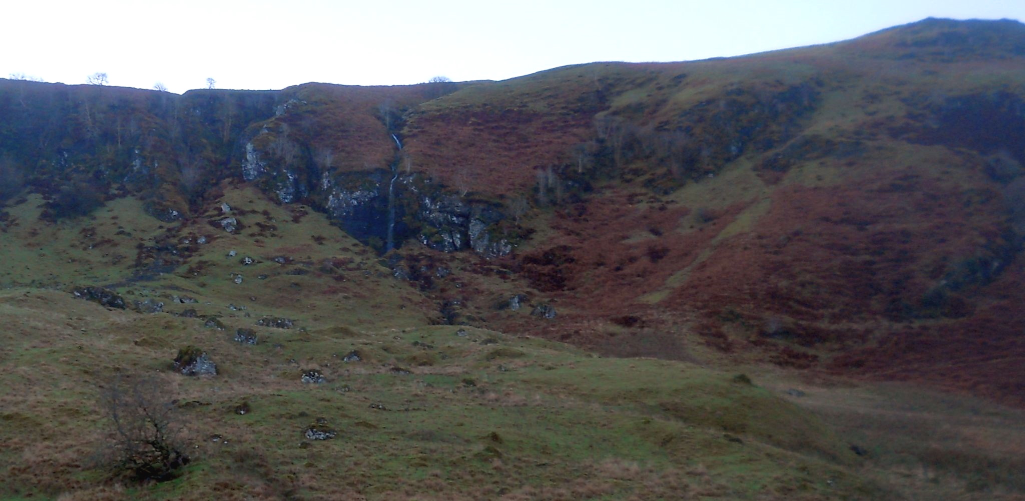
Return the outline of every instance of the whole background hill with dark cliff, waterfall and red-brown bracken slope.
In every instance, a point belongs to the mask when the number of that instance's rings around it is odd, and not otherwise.
[[[0,81],[0,182],[31,184],[51,212],[101,203],[76,193],[133,194],[164,221],[201,213],[217,183],[251,183],[378,252],[494,258],[482,275],[519,281],[505,299],[558,304],[532,329],[581,344],[697,333],[780,365],[835,349],[847,359],[831,364],[863,368],[908,361],[887,343],[935,329],[943,343],[911,343],[915,361],[938,345],[988,360],[1021,350],[1021,47],[1018,23],[928,19],[444,88]],[[433,299],[469,309],[458,289]]]

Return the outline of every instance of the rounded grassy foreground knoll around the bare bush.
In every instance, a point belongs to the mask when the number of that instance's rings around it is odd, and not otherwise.
[[[460,337],[452,327],[258,329],[263,341],[244,346],[201,320],[109,311],[59,292],[11,289],[0,303],[8,495],[840,499],[876,492],[816,418],[729,374],[686,364],[596,359],[488,331]],[[169,360],[184,344],[204,346],[220,373],[171,374]],[[364,361],[340,362],[353,348]],[[396,374],[396,366],[411,374]],[[299,382],[308,368],[329,382]],[[96,388],[117,372],[156,374],[174,388],[167,396],[178,399],[199,446],[199,460],[180,478],[115,495],[90,468],[101,441]],[[252,412],[233,414],[243,401]],[[300,448],[317,417],[340,434]],[[744,443],[729,442],[724,430]],[[222,441],[210,442],[214,434]]]

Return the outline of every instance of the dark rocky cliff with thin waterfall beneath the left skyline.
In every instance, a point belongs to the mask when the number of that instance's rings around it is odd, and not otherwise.
[[[396,106],[402,95],[385,92],[364,99],[379,102],[365,102],[355,117],[325,119],[300,98],[309,96],[302,88],[176,95],[0,80],[0,155],[5,169],[17,169],[9,177],[18,182],[33,180],[51,192],[67,176],[89,179],[104,192],[123,184],[148,200],[151,215],[170,222],[189,217],[218,181],[235,178],[257,183],[283,204],[311,203],[379,251],[410,240],[446,252],[511,251],[491,227],[505,218],[496,204],[464,202],[422,173],[397,174],[399,152],[387,122],[398,119],[379,108]],[[432,88],[423,95],[440,94]],[[363,154],[367,148],[332,149],[325,144],[329,134],[316,130],[323,125],[318,121],[341,129],[369,123],[370,135],[376,129],[379,136],[369,150],[383,143],[387,153],[375,160]],[[356,159],[342,158],[346,152]]]

